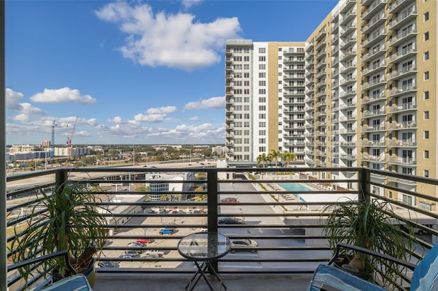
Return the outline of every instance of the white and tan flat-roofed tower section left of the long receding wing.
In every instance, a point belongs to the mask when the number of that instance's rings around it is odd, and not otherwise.
[[[227,41],[225,85],[229,161],[273,149],[304,161],[304,43]]]

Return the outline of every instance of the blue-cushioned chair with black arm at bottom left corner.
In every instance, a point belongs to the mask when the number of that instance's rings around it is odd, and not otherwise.
[[[51,258],[59,257],[64,255],[66,257],[66,262],[68,262],[67,251],[57,251],[55,253],[51,253],[49,255],[42,255],[39,258],[33,258],[29,260],[25,260],[24,262],[19,262],[16,264],[12,264],[8,266],[8,272],[16,270],[17,268],[22,268],[23,266],[29,266],[33,264],[38,264],[43,262],[44,260],[48,260]],[[67,263],[68,268],[74,274],[76,273],[73,269],[73,266],[70,263]],[[47,285],[49,283],[49,285]],[[46,286],[44,286],[46,285]],[[90,283],[88,283],[88,279],[83,274],[75,274],[54,283],[50,283],[46,281],[42,283],[42,286],[38,286],[38,290],[44,291],[92,291]]]

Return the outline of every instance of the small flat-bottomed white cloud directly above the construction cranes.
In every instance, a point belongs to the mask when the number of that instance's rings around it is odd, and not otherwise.
[[[92,98],[90,95],[81,95],[78,89],[70,89],[68,87],[61,89],[44,89],[42,93],[37,93],[34,96],[31,96],[30,100],[44,103],[96,103],[96,99]]]

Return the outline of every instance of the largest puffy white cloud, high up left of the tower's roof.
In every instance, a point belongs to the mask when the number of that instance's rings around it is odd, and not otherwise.
[[[101,20],[118,23],[127,33],[124,57],[144,66],[193,70],[216,64],[228,39],[239,39],[236,17],[200,23],[192,14],[153,14],[147,4],[114,2],[96,11]]]

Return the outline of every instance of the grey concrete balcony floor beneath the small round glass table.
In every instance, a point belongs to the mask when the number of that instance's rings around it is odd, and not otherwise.
[[[209,277],[209,275],[207,275]],[[94,291],[177,291],[185,290],[191,276],[187,274],[96,274]],[[214,290],[220,290],[219,281],[211,278]],[[227,286],[227,291],[305,291],[311,280],[311,274],[296,275],[220,275]],[[194,290],[209,290],[201,278]],[[222,288],[222,290],[224,290]]]

